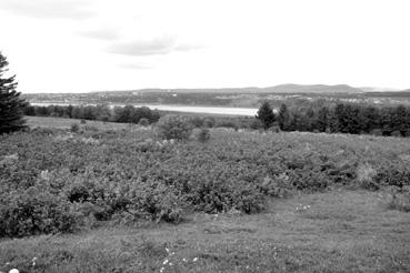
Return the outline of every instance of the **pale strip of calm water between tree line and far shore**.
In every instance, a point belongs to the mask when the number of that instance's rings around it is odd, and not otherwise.
[[[69,103],[31,103],[32,105],[68,105]],[[76,105],[72,103],[72,105]],[[123,107],[123,105],[118,105]],[[134,107],[148,107],[149,109],[158,109],[163,111],[178,111],[187,113],[211,113],[211,114],[232,114],[232,115],[256,115],[256,108],[222,108],[222,107],[179,107],[179,105],[154,105],[154,104],[136,104]]]

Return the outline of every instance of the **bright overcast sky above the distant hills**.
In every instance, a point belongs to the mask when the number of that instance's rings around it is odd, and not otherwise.
[[[22,92],[410,88],[409,0],[0,0]]]

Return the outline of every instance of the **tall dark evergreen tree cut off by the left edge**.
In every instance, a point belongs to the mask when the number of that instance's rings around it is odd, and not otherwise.
[[[20,99],[20,93],[16,91],[16,75],[4,75],[7,65],[9,62],[0,52],[0,134],[26,128],[23,111],[27,102]]]

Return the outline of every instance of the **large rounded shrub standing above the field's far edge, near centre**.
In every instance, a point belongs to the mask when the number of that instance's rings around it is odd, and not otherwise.
[[[192,128],[187,118],[181,115],[166,115],[158,122],[159,136],[166,140],[188,140]]]

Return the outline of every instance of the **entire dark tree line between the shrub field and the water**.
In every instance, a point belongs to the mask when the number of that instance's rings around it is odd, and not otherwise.
[[[26,115],[58,117],[121,123],[153,123],[169,112],[132,105],[27,105]],[[256,118],[187,115],[194,128],[266,129],[274,131],[308,131],[328,133],[410,136],[410,108],[378,107],[347,102],[312,102],[284,104],[273,111],[262,103]]]

